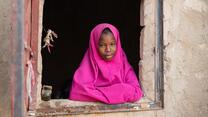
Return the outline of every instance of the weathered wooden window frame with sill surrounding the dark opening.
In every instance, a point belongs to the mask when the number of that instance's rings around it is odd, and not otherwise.
[[[143,4],[143,0],[142,3]],[[41,101],[41,71],[42,61],[40,54],[41,43],[41,26],[42,24],[42,10],[43,0],[32,0],[31,6],[32,20],[31,20],[31,45],[33,52],[33,64],[36,85],[32,88],[32,102],[29,102],[27,114],[30,116],[52,116],[52,115],[71,115],[71,114],[86,114],[86,113],[105,113],[105,112],[133,112],[133,111],[146,111],[157,110],[163,108],[163,1],[155,1],[155,48],[154,48],[154,99],[149,99],[148,95],[145,95],[144,99],[135,103],[125,103],[117,105],[108,105],[99,102],[78,102],[67,99]],[[141,8],[143,8],[141,6]],[[143,13],[140,13],[142,15]],[[144,17],[144,16],[143,16]],[[141,32],[142,35],[142,32]],[[140,41],[142,41],[142,36]],[[141,45],[141,51],[143,45]],[[140,52],[141,54],[141,52]],[[140,55],[141,56],[141,55]],[[141,57],[142,58],[142,57]],[[139,63],[139,67],[142,68],[142,63]],[[140,75],[142,75],[140,71]],[[141,76],[142,77],[142,76]],[[141,83],[142,85],[142,83]],[[147,99],[147,100],[145,100]]]

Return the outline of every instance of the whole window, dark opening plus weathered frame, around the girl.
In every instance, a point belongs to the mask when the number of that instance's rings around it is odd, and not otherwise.
[[[109,9],[106,9],[104,4],[110,3],[108,5]],[[64,114],[82,114],[82,113],[102,113],[102,112],[119,112],[119,111],[138,111],[138,110],[152,110],[161,109],[163,106],[163,64],[162,64],[162,1],[157,0],[157,2],[152,3],[150,6],[155,11],[151,16],[153,18],[153,24],[155,26],[145,25],[144,19],[144,9],[145,1],[143,0],[132,0],[120,1],[119,7],[113,1],[55,1],[55,0],[45,0],[45,6],[40,2],[32,2],[32,14],[39,14],[37,16],[32,15],[32,19],[41,22],[42,11],[35,12],[35,7],[40,7],[43,9],[43,28],[52,29],[58,33],[59,39],[55,40],[55,47],[52,49],[52,54],[48,54],[47,51],[42,50],[43,61],[40,59],[40,43],[41,43],[41,31],[40,28],[42,24],[37,22],[32,22],[32,30],[39,30],[39,40],[34,45],[36,48],[34,54],[34,60],[36,61],[36,66],[34,68],[38,69],[38,74],[36,74],[37,82],[32,90],[32,102],[29,103],[29,114],[36,115],[64,115]],[[112,5],[112,6],[111,6]],[[62,6],[62,7],[58,7]],[[79,7],[80,6],[80,7]],[[113,9],[115,8],[115,9]],[[52,10],[53,9],[53,10]],[[96,9],[96,10],[95,10]],[[113,9],[113,10],[112,10]],[[147,9],[147,8],[146,8]],[[48,10],[48,11],[47,11]],[[52,12],[50,12],[52,10]],[[137,14],[137,15],[135,15]],[[140,14],[140,20],[139,20]],[[53,16],[56,15],[56,16]],[[67,15],[71,16],[68,17]],[[129,16],[129,17],[126,17]],[[36,19],[35,19],[36,17]],[[39,18],[39,19],[38,19]],[[155,18],[155,19],[154,19]],[[141,31],[139,21],[145,28]],[[66,23],[67,22],[67,23]],[[61,79],[62,82],[68,81],[69,74],[71,78],[73,72],[76,70],[78,64],[80,63],[85,49],[88,46],[89,41],[89,31],[97,23],[108,22],[115,24],[118,27],[121,34],[122,46],[127,53],[130,64],[134,67],[135,71],[139,71],[139,78],[143,90],[145,91],[145,97],[139,102],[126,103],[119,105],[106,105],[101,103],[92,102],[76,102],[68,99],[55,99],[55,98],[66,98],[67,94],[64,92],[65,87],[70,86],[70,84],[60,85],[55,84],[53,88],[55,91],[53,93],[53,98],[50,102],[44,102],[40,99],[41,92],[41,80],[43,83],[50,83],[53,78]],[[125,22],[125,23],[124,23]],[[38,26],[35,26],[38,25]],[[151,35],[148,35],[146,29],[151,29]],[[155,32],[155,33],[154,33]],[[81,34],[80,34],[81,33]],[[44,35],[44,32],[42,33]],[[136,40],[139,39],[140,41]],[[146,36],[146,37],[145,37]],[[144,38],[148,39],[153,43],[148,45]],[[129,40],[132,38],[132,40]],[[81,39],[81,40],[79,40]],[[138,43],[135,44],[135,43]],[[129,46],[129,44],[131,46]],[[76,46],[73,46],[76,45]],[[152,49],[152,53],[143,54],[147,48]],[[73,48],[71,48],[73,47]],[[39,48],[39,49],[38,49]],[[140,49],[139,49],[140,48]],[[74,51],[76,50],[76,51]],[[147,51],[150,52],[150,51]],[[70,54],[68,54],[70,53]],[[140,53],[140,54],[139,54]],[[146,57],[150,59],[149,62],[153,64],[148,64],[145,60]],[[38,58],[39,57],[39,58]],[[54,61],[55,60],[55,61]],[[57,62],[58,61],[58,62]],[[140,61],[140,62],[139,62]],[[139,62],[139,65],[138,65]],[[43,66],[42,66],[43,65]],[[42,66],[42,68],[41,68]],[[152,70],[150,74],[146,73],[147,69]],[[70,70],[69,70],[70,69]],[[139,69],[139,70],[138,70]],[[43,70],[43,71],[42,71]],[[35,70],[34,70],[35,71]],[[42,71],[42,73],[41,73]],[[58,72],[58,73],[57,73]],[[71,72],[71,73],[69,73]],[[144,73],[145,72],[145,73]],[[57,75],[58,74],[58,75]],[[146,78],[144,78],[144,74]],[[67,76],[67,78],[66,78]],[[43,78],[43,79],[42,79]],[[52,79],[50,79],[52,78]],[[50,80],[49,80],[50,79]],[[52,83],[51,83],[52,84]],[[61,90],[61,91],[60,91]],[[66,91],[68,93],[68,91]],[[34,105],[38,105],[37,108]],[[50,107],[50,109],[48,109]],[[33,113],[36,110],[36,113]]]

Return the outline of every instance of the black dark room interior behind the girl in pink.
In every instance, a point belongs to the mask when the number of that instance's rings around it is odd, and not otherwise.
[[[140,0],[45,0],[43,36],[58,34],[51,54],[43,48],[42,84],[52,85],[53,99],[67,98],[73,74],[88,48],[90,31],[99,23],[119,29],[122,48],[138,74]],[[42,42],[43,46],[43,42]]]

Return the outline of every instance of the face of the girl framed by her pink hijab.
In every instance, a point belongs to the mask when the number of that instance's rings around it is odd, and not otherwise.
[[[116,53],[116,40],[112,33],[101,35],[98,42],[98,51],[104,60],[112,60]]]

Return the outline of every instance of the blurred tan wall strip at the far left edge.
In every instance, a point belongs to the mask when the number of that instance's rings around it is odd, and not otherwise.
[[[11,113],[11,39],[12,32],[10,13],[11,1],[0,0],[0,116],[7,117]]]

